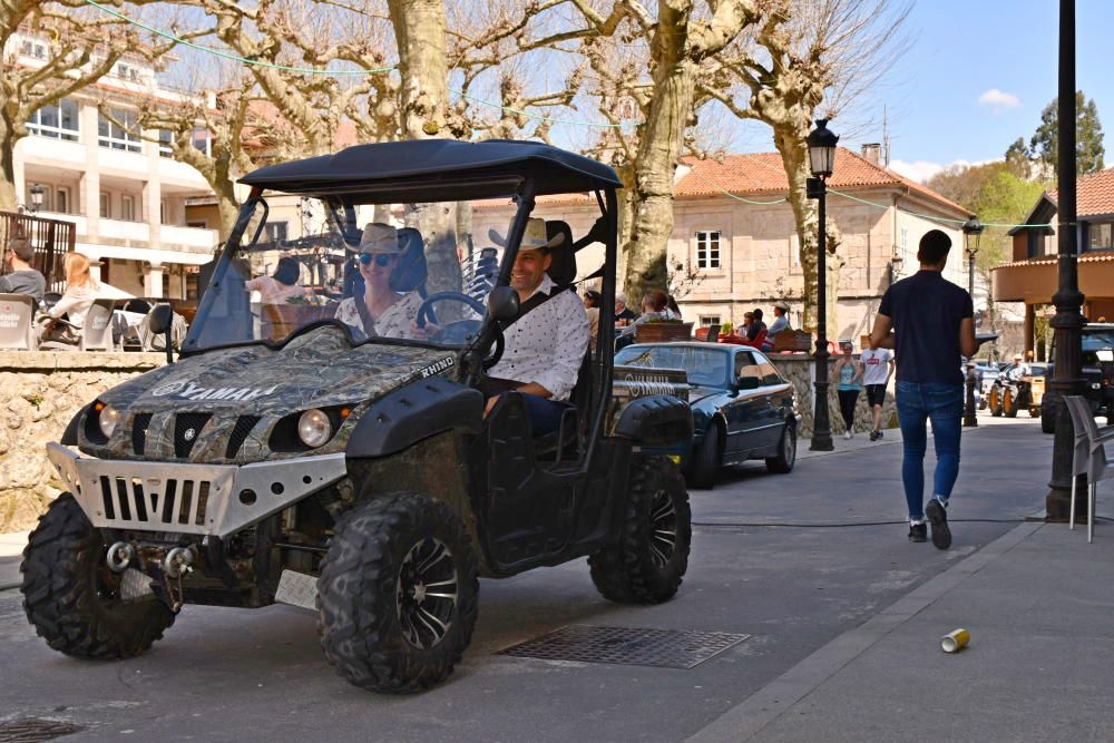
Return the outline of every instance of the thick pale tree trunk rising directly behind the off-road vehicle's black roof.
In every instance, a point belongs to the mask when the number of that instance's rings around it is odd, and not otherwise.
[[[407,139],[449,136],[444,4],[442,0],[389,0],[388,6],[402,77],[402,135]],[[459,292],[456,208],[451,204],[408,204],[405,211],[407,226],[417,227],[426,238],[430,293]]]

